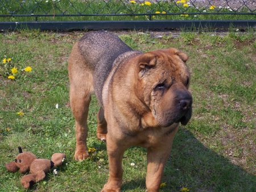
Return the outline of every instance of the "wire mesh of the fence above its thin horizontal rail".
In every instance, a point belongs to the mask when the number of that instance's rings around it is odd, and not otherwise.
[[[0,0],[0,17],[255,15],[255,0]],[[137,16],[137,18],[136,18]],[[151,17],[152,16],[152,17]]]

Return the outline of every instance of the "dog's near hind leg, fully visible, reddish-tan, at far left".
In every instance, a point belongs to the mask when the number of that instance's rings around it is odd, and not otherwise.
[[[84,160],[88,157],[86,147],[87,117],[91,95],[93,93],[93,74],[87,68],[77,44],[74,45],[68,59],[70,81],[70,101],[76,121],[76,151],[75,159]]]

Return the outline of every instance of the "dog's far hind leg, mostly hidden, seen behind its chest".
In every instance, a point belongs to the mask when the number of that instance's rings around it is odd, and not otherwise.
[[[106,141],[107,123],[104,117],[104,109],[101,107],[97,115],[97,138]]]

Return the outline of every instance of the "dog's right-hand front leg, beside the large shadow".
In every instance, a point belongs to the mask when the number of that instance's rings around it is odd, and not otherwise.
[[[159,191],[164,164],[171,153],[172,141],[177,128],[153,147],[147,148],[147,192]]]

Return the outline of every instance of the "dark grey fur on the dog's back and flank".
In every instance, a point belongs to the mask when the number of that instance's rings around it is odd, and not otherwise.
[[[112,69],[114,60],[133,51],[118,36],[109,32],[88,32],[81,37],[79,49],[87,67],[93,70],[94,92],[102,103],[102,87]]]

